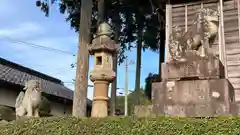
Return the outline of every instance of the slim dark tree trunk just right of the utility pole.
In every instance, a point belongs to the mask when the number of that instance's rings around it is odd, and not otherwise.
[[[135,81],[135,91],[136,91],[136,105],[140,102],[140,78],[141,78],[141,61],[142,61],[142,31],[138,32],[137,40],[137,62],[136,62],[136,81]]]

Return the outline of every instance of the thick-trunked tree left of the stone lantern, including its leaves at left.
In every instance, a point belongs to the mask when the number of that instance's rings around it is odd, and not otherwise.
[[[37,0],[36,2],[36,5],[41,7],[41,10],[46,16],[48,16],[50,6],[48,1],[49,0]],[[56,1],[57,0],[51,0],[52,3]],[[74,26],[76,31],[79,31],[76,82],[72,110],[73,116],[84,117],[87,113],[89,70],[89,54],[87,50],[91,35],[92,5],[92,0],[60,1],[60,12],[65,13],[67,10],[69,13],[67,20],[71,22],[71,26]],[[75,10],[71,10],[71,8]]]

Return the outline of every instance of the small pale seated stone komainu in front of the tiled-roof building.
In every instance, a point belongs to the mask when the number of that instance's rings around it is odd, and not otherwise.
[[[16,119],[25,115],[30,117],[39,117],[42,99],[40,86],[39,80],[30,80],[25,83],[25,87],[23,88],[26,90],[25,93],[23,91],[20,92],[16,99]]]

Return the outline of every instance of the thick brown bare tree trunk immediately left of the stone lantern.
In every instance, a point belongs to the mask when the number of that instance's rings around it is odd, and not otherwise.
[[[76,83],[73,98],[73,116],[84,117],[87,113],[87,90],[90,43],[90,27],[92,17],[92,0],[82,0],[79,27],[79,45],[77,57]],[[80,30],[81,29],[81,30]]]

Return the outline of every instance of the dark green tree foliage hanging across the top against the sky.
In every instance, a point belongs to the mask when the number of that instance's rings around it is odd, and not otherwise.
[[[49,15],[49,0],[37,0],[36,5],[45,13]],[[110,24],[118,24],[120,26],[119,31],[119,62],[123,62],[125,56],[123,55],[126,50],[131,49],[132,42],[136,41],[139,37],[136,35],[137,31],[143,32],[142,43],[143,47],[151,48],[152,50],[158,50],[159,42],[159,20],[155,8],[159,7],[157,0],[105,0],[105,17],[110,21]],[[66,21],[70,23],[70,26],[78,32],[80,24],[80,7],[81,0],[51,0],[52,4],[59,4],[59,11],[62,14],[67,14]],[[98,8],[97,0],[93,0],[93,12],[92,12],[92,35],[97,29],[98,20]],[[163,15],[161,10],[157,12]],[[161,20],[164,21],[164,20]],[[114,28],[116,29],[116,28]],[[92,36],[93,37],[93,36]]]

